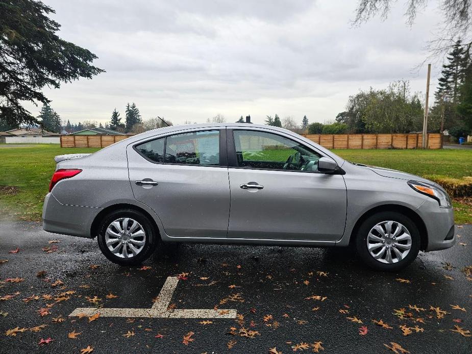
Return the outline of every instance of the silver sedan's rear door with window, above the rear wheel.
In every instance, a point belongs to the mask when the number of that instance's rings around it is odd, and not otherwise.
[[[156,212],[171,237],[227,236],[226,161],[226,129],[173,134],[128,146],[134,196]]]

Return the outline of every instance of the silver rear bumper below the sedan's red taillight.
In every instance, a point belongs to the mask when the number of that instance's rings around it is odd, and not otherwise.
[[[101,208],[79,207],[59,203],[47,193],[43,206],[43,230],[55,234],[88,237],[93,219]]]

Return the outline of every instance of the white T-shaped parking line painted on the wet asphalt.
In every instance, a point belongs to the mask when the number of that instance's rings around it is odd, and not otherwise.
[[[167,310],[172,299],[172,294],[177,288],[179,278],[168,276],[157,301],[151,309],[98,309],[95,307],[77,308],[69,316],[85,314],[93,316],[100,313],[100,317],[148,317],[148,318],[236,318],[236,310],[214,310],[214,309],[176,309]]]

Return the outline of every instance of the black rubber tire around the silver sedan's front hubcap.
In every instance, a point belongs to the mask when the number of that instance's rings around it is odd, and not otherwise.
[[[406,227],[411,236],[411,248],[408,254],[396,263],[382,263],[378,261],[370,255],[367,248],[367,236],[370,230],[372,227],[383,221],[396,221],[401,223]],[[398,212],[380,212],[368,217],[359,227],[355,241],[357,253],[361,260],[370,268],[381,271],[396,271],[409,265],[418,255],[421,242],[418,227],[416,227],[415,223],[408,216]],[[391,254],[394,255],[393,250],[391,250]]]

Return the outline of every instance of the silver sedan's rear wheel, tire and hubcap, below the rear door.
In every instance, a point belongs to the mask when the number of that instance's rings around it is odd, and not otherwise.
[[[160,238],[152,222],[142,213],[123,209],[104,217],[98,246],[113,263],[138,265],[156,249]]]

